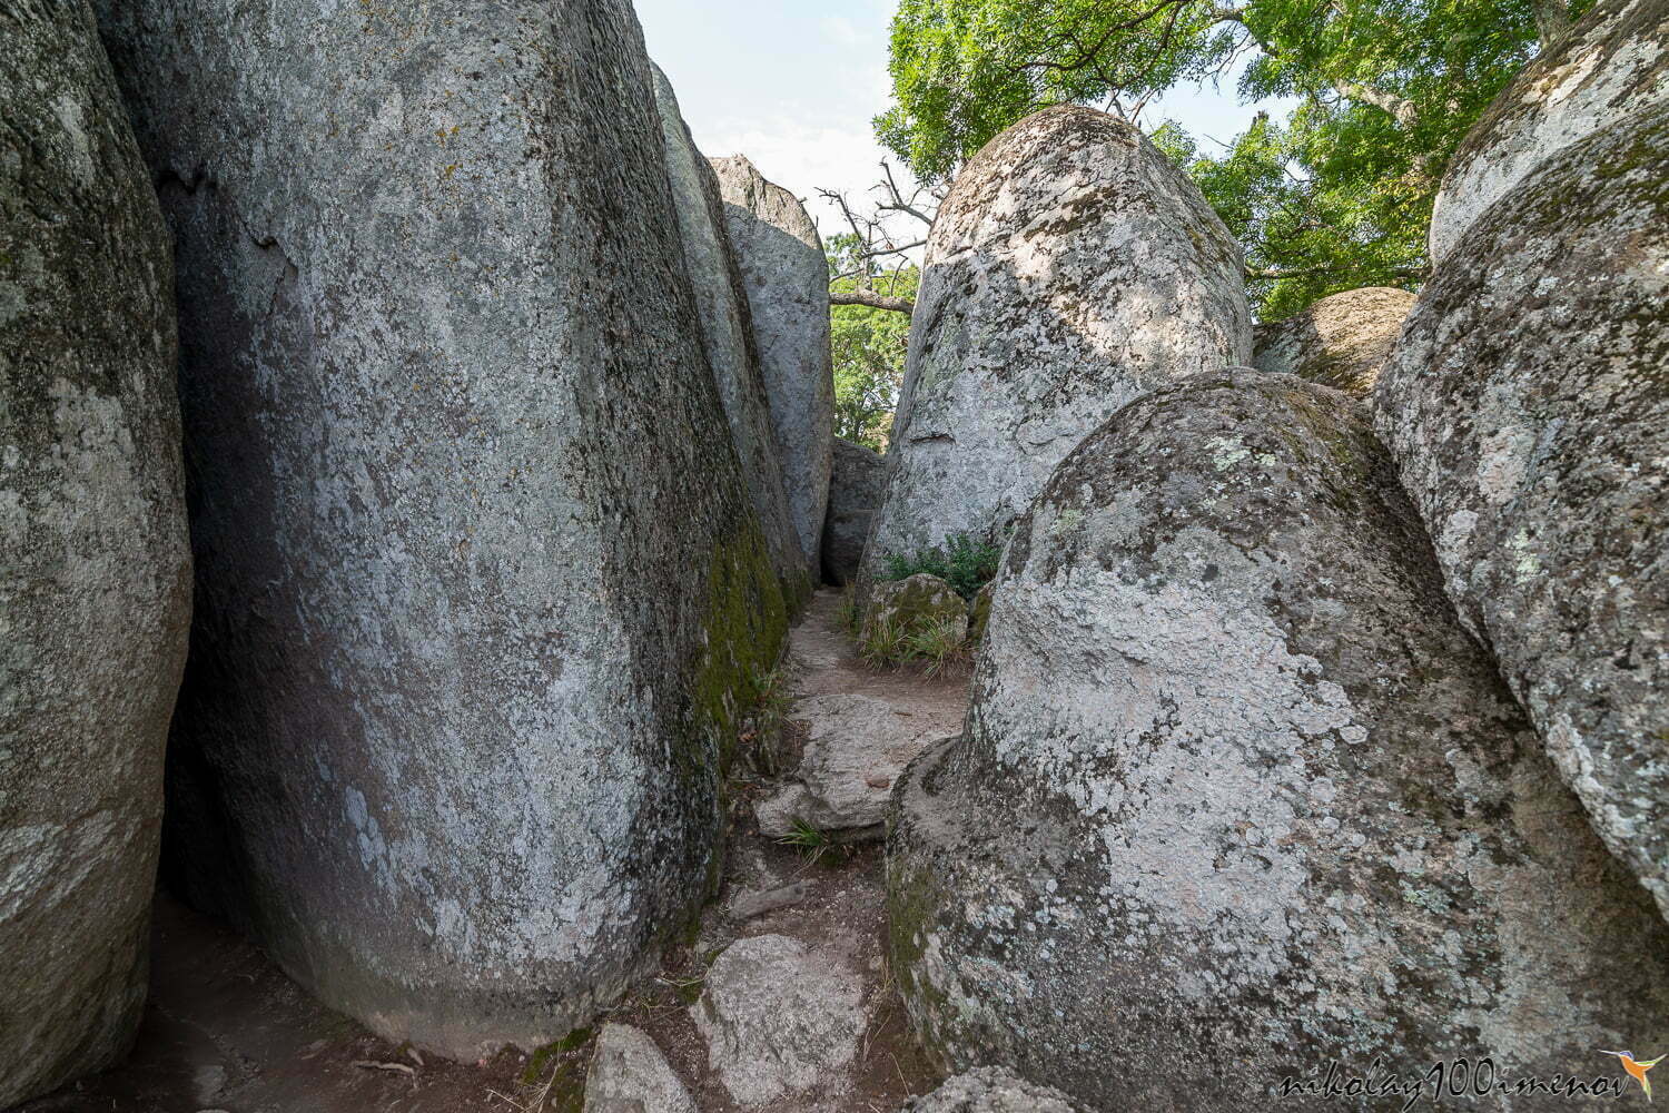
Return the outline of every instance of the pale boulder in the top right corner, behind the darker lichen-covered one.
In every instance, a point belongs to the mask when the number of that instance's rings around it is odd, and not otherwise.
[[[1535,167],[1591,132],[1669,100],[1669,0],[1599,0],[1495,97],[1455,149],[1432,204],[1432,262]]]

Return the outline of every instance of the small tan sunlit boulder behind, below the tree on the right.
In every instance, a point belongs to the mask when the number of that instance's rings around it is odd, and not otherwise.
[[[1385,285],[1324,297],[1285,320],[1258,325],[1252,365],[1365,399],[1412,307],[1414,294]]]

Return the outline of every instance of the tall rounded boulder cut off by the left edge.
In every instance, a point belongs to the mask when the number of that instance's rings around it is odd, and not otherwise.
[[[0,1108],[139,1026],[190,549],[174,262],[85,0],[0,13]]]

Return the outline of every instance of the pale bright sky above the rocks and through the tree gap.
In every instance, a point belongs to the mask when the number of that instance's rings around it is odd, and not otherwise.
[[[886,152],[870,120],[890,105],[886,40],[895,3],[636,0],[649,57],[671,78],[701,152],[748,155],[806,202],[823,235],[845,222],[818,187],[858,200],[881,177]],[[1173,118],[1197,137],[1227,140],[1257,108],[1237,103],[1233,82],[1225,80],[1220,90],[1172,90],[1143,122]],[[893,232],[918,235],[908,217]]]

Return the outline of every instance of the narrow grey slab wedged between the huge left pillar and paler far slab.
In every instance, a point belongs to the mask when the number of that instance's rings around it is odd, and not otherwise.
[[[673,83],[659,67],[653,68],[654,107],[666,140],[666,177],[673,184],[684,264],[696,295],[701,345],[713,365],[741,474],[748,481],[754,514],[771,549],[771,564],[789,596],[789,606],[798,607],[814,587],[816,566],[801,552],[799,532],[789,516],[748,290],[724,225],[724,199],[718,175],[696,150],[696,140],[678,110]]]

